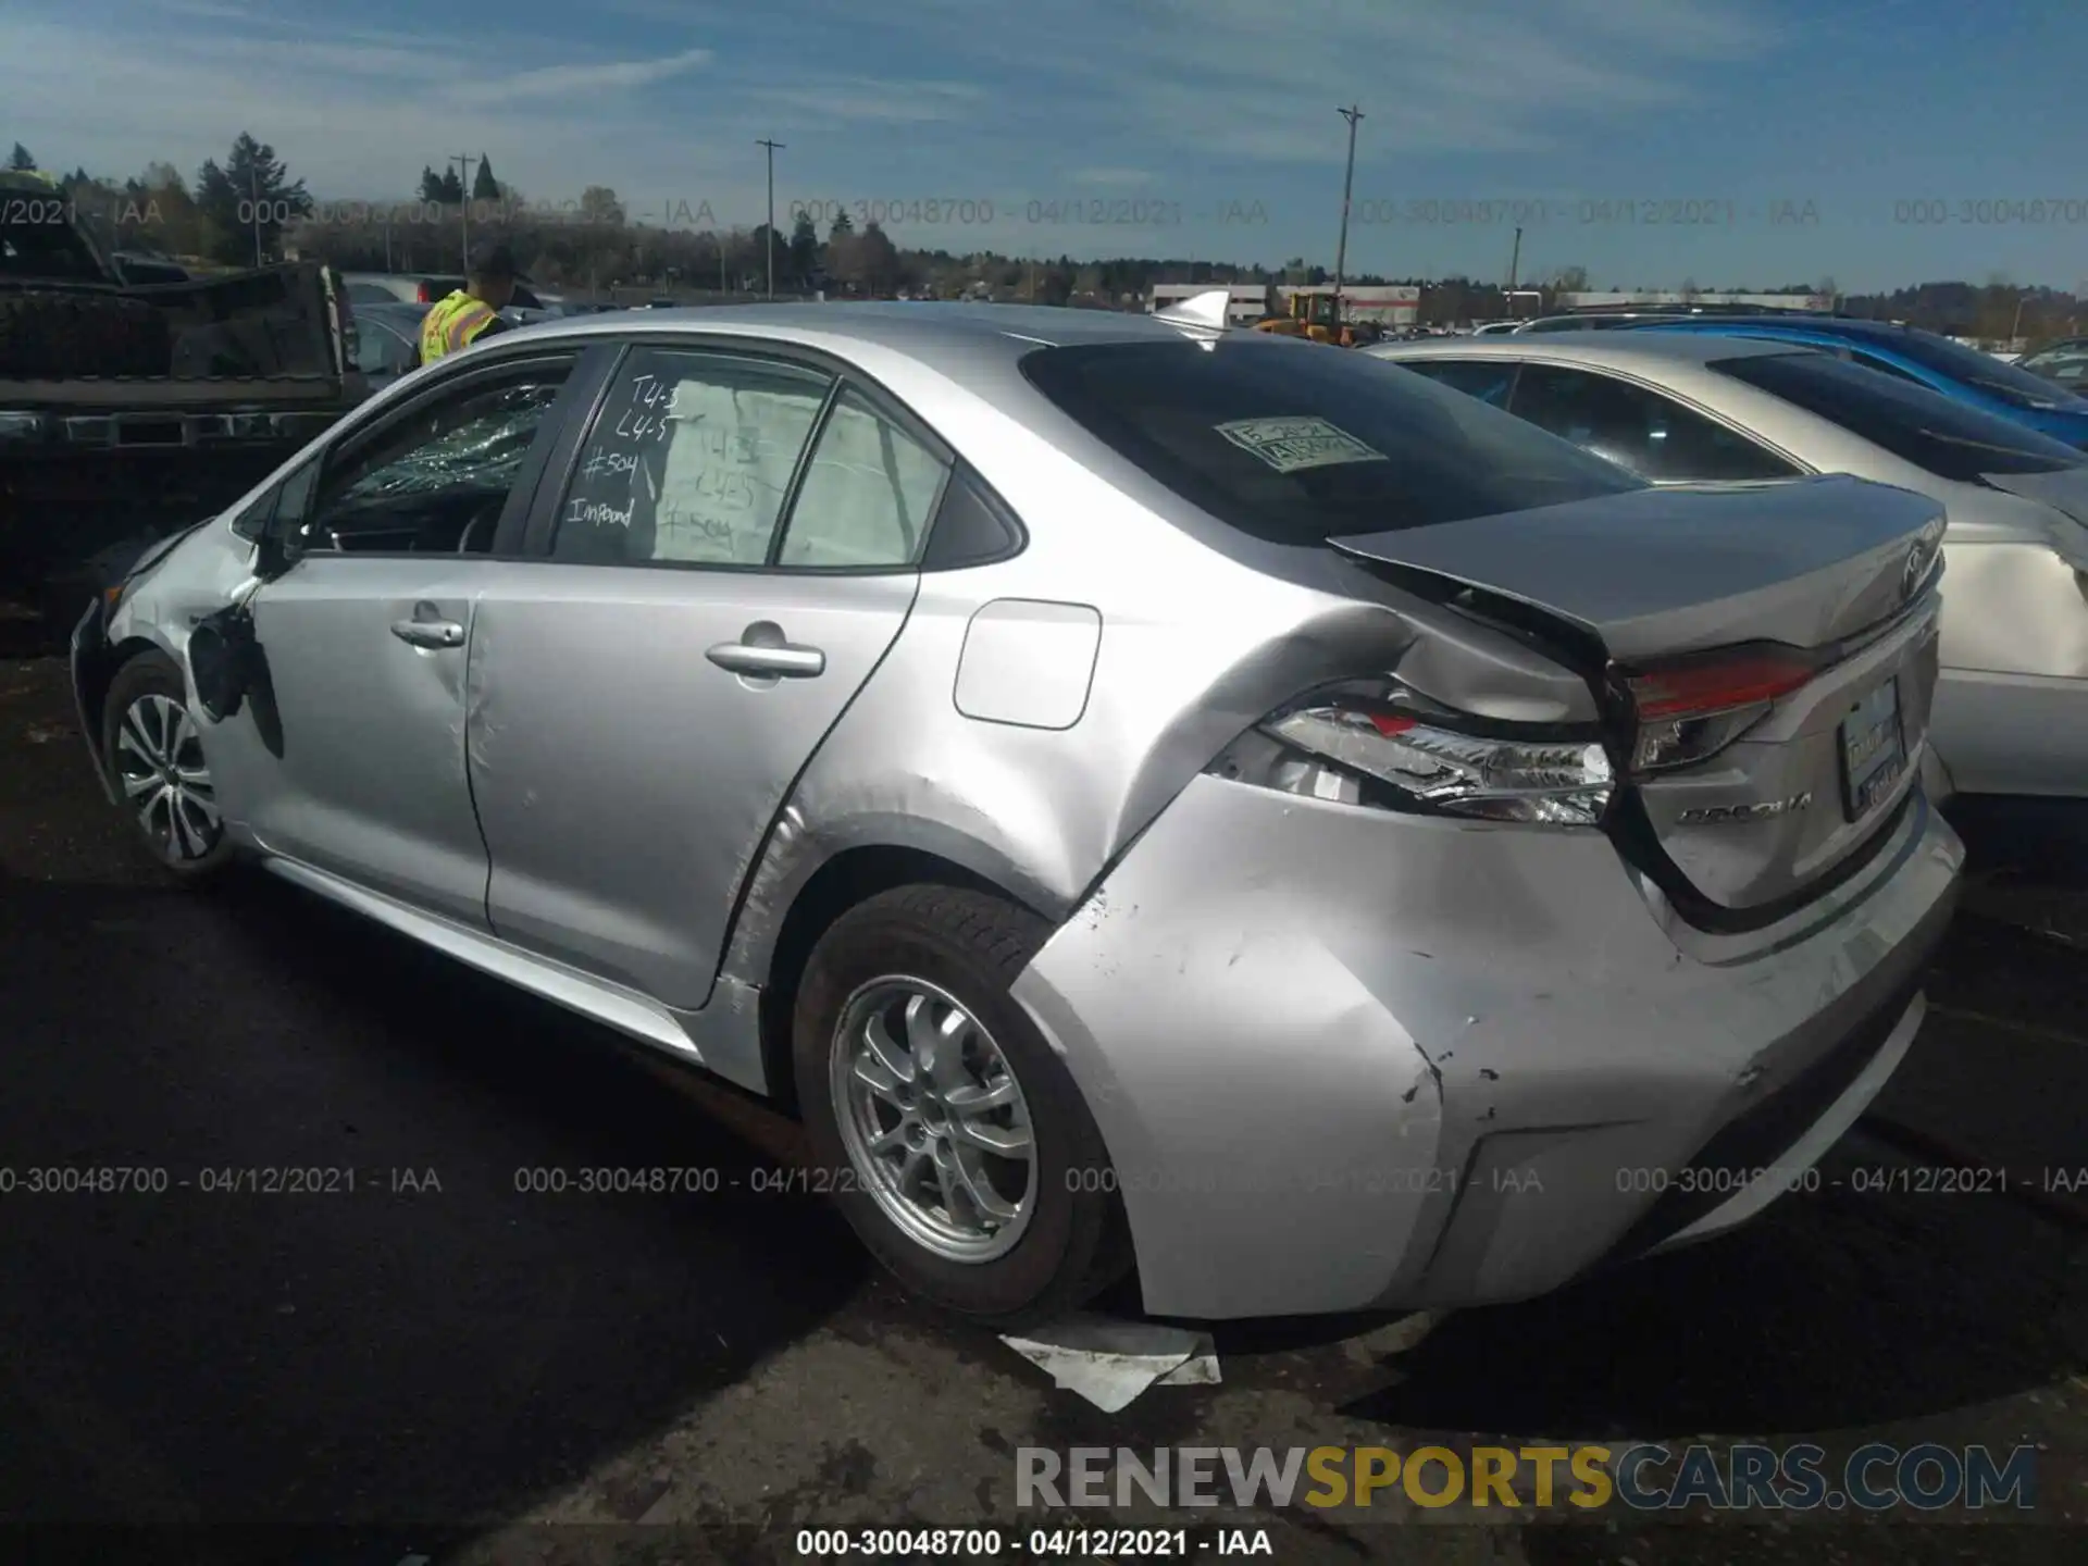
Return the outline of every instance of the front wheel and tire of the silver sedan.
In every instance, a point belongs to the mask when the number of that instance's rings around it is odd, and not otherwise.
[[[182,668],[159,651],[117,670],[102,704],[102,762],[136,841],[177,881],[215,879],[232,860],[203,725]]]

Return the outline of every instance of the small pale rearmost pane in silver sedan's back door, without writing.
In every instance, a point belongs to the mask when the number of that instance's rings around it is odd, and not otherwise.
[[[942,457],[848,388],[821,426],[791,505],[779,566],[912,564],[935,514]]]

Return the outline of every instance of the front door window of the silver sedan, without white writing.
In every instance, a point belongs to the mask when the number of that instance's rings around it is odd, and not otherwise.
[[[305,518],[305,549],[489,547],[572,365],[560,357],[474,376],[342,453]]]

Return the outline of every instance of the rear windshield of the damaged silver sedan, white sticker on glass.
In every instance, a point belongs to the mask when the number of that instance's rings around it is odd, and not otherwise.
[[[1242,332],[1040,349],[1023,374],[1167,489],[1274,543],[1645,489],[1510,413],[1326,345]]]

